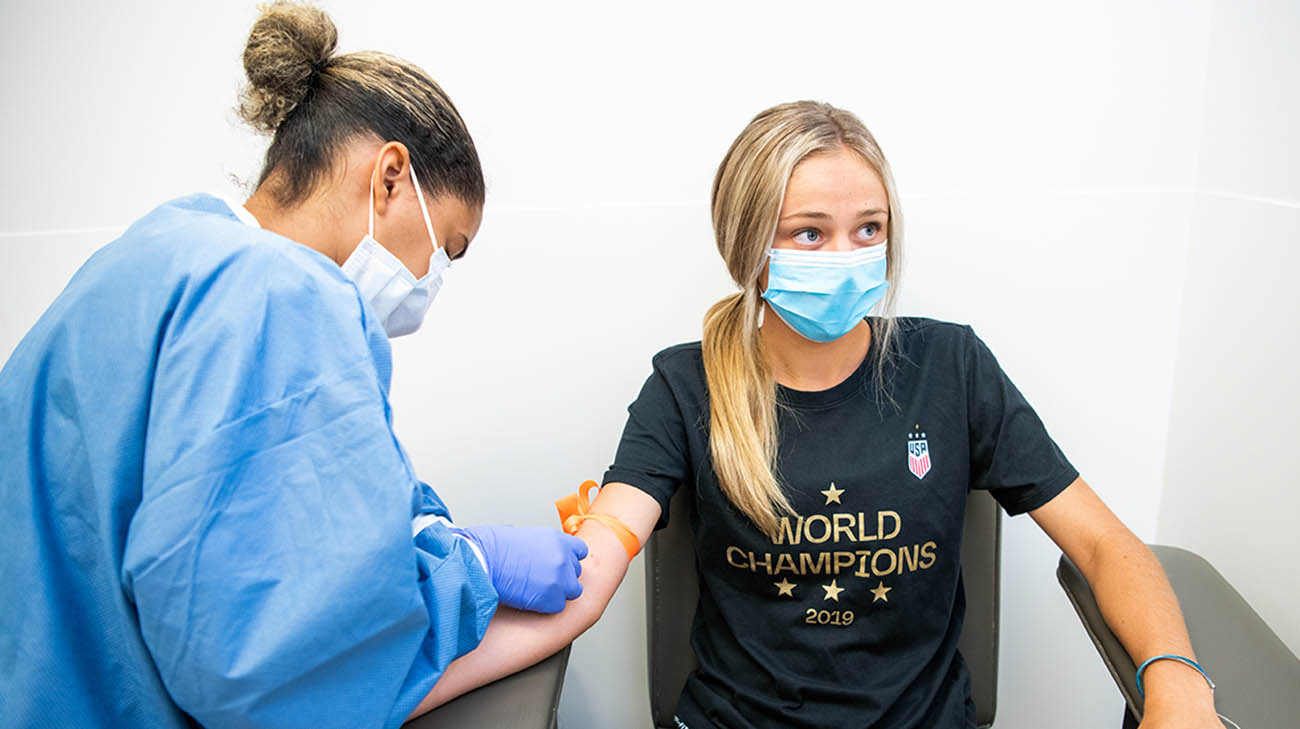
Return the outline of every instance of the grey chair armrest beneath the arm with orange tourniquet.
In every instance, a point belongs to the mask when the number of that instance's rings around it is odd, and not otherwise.
[[[554,729],[572,646],[403,724],[403,729]]]

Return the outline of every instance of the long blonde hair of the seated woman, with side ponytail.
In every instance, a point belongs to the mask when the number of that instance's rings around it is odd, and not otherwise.
[[[783,515],[794,515],[780,482],[776,379],[763,353],[758,282],[776,231],[785,183],[809,155],[849,148],[880,174],[889,195],[889,292],[876,327],[876,377],[894,334],[892,318],[902,266],[902,214],[893,174],[867,127],[829,104],[796,101],[767,109],[732,143],[714,178],[718,251],[741,291],[705,314],[703,360],[708,383],[708,443],[718,483],[731,503],[770,538]]]

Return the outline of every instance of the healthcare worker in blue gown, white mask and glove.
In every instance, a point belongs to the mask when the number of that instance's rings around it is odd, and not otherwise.
[[[393,434],[389,337],[482,170],[422,70],[335,39],[266,8],[255,195],[136,221],[0,372],[0,725],[396,726],[498,600],[581,591],[580,539],[454,526]]]

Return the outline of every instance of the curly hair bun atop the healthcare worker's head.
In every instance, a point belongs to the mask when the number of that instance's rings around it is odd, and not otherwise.
[[[244,47],[248,86],[239,116],[259,131],[274,133],[307,96],[337,44],[338,29],[324,10],[294,3],[264,6]]]

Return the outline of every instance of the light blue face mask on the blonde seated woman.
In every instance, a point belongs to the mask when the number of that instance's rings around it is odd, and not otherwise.
[[[772,248],[763,299],[805,338],[833,342],[853,330],[889,288],[887,247],[888,242],[846,252]]]

